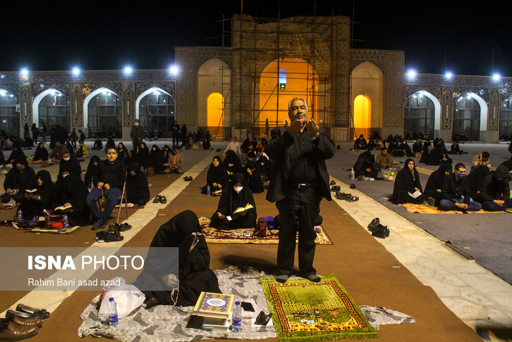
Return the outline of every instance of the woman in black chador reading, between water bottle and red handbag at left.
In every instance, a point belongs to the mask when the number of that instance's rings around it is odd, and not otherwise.
[[[36,174],[36,192],[25,193],[25,200],[19,209],[23,211],[23,218],[31,220],[35,216],[41,216],[42,211],[53,210],[53,197],[55,185],[52,182],[50,172],[41,170]]]

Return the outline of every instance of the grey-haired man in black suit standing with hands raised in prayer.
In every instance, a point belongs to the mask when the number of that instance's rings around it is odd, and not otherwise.
[[[308,120],[304,99],[288,103],[285,127],[276,127],[265,152],[274,159],[267,200],[275,201],[281,217],[278,246],[278,280],[285,283],[293,272],[295,236],[298,231],[298,268],[301,275],[318,282],[313,267],[315,255],[314,220],[320,212],[322,197],[331,200],[325,160],[336,151],[313,119]],[[322,121],[319,122],[322,124]]]

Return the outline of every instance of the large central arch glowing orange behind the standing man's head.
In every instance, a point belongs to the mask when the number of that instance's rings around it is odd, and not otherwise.
[[[276,59],[260,76],[260,115],[254,126],[265,127],[268,118],[270,126],[284,125],[288,119],[288,102],[302,97],[308,105],[308,117],[318,123],[318,76],[313,67],[304,59]]]

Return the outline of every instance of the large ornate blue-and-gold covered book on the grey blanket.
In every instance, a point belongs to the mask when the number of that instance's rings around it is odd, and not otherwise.
[[[234,296],[232,294],[201,292],[192,311],[193,315],[225,319],[231,313]]]

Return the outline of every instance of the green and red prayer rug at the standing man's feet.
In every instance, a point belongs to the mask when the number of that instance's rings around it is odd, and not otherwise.
[[[319,283],[261,278],[280,342],[378,338],[375,329],[334,274]]]

